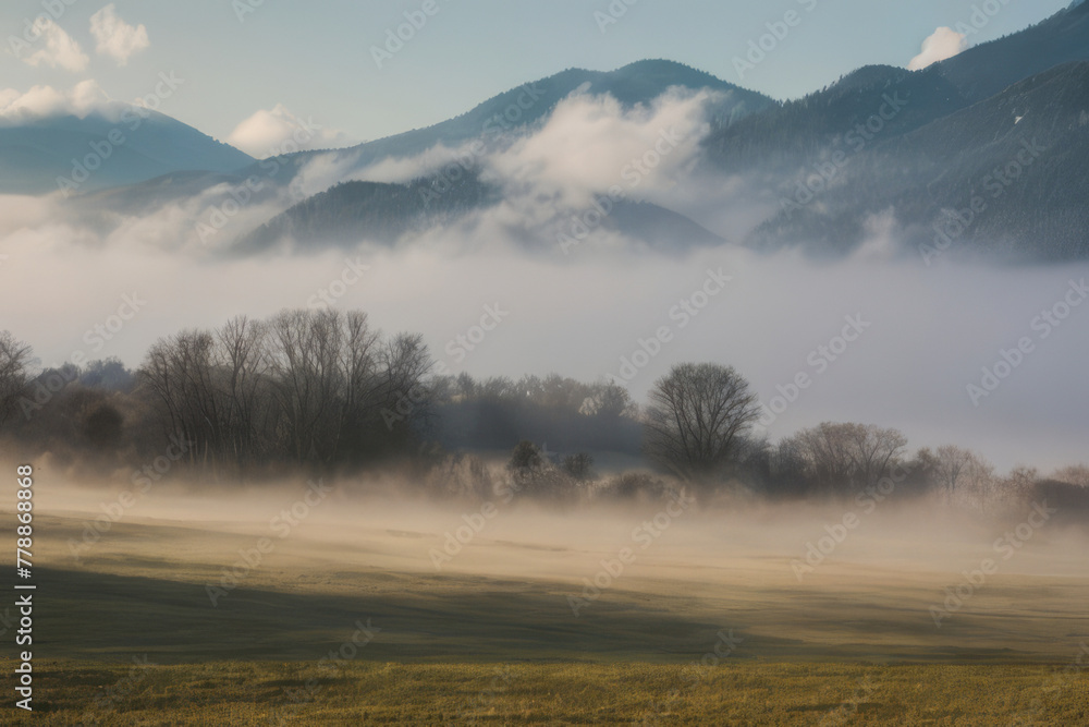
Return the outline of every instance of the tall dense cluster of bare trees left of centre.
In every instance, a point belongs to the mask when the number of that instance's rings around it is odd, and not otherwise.
[[[430,367],[419,336],[383,343],[364,313],[283,311],[161,339],[139,378],[163,428],[187,437],[209,465],[245,471],[256,462],[327,465],[389,450],[392,435],[379,412],[418,390]]]

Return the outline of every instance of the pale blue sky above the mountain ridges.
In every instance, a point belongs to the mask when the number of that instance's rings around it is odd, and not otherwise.
[[[115,0],[118,14],[144,24],[150,41],[124,66],[95,52],[89,19],[107,3],[74,0],[58,24],[89,56],[87,68],[30,68],[4,41],[0,90],[69,88],[94,78],[110,96],[130,100],[150,90],[160,71],[174,71],[186,83],[161,110],[219,138],[258,109],[283,104],[296,116],[369,140],[441,121],[565,68],[611,70],[643,58],[682,61],[776,98],[797,97],[859,65],[906,65],[938,26],[969,22],[981,2],[638,0],[602,33],[594,13],[607,11],[610,0],[436,1],[439,12],[379,70],[370,47],[425,0],[264,0],[241,23],[232,0]],[[3,36],[20,34],[44,2],[62,0],[7,0]],[[1016,32],[1067,4],[1008,0],[970,39]],[[732,59],[790,10],[800,23],[738,78]]]

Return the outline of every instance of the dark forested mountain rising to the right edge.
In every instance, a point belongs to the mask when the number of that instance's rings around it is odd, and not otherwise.
[[[984,195],[955,254],[1087,257],[1087,59],[1081,3],[925,70],[866,66],[715,129],[706,165],[774,195],[778,211],[745,240],[758,249],[846,254],[883,220],[914,254]],[[1048,153],[1006,184],[1023,144]]]

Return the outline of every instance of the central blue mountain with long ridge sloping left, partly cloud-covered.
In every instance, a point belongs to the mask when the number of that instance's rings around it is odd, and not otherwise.
[[[299,152],[259,162],[250,159],[248,166],[230,170],[220,168],[195,172],[188,171],[191,167],[185,167],[186,171],[170,173],[135,186],[83,195],[75,204],[87,210],[106,205],[129,215],[139,215],[203,194],[207,197],[207,204],[215,206],[230,198],[227,185],[241,185],[247,178],[256,178],[261,182],[261,190],[254,197],[269,202],[274,199],[277,190],[286,190],[299,170],[319,156],[330,167],[339,168],[343,174],[351,174],[353,170],[362,170],[376,161],[411,157],[440,144],[452,148],[481,140],[488,148],[494,148],[519,134],[530,133],[534,124],[543,122],[556,104],[572,93],[610,94],[625,108],[633,108],[639,104],[649,105],[675,87],[718,92],[711,109],[718,123],[731,123],[749,113],[775,106],[775,101],[762,94],[746,90],[709,73],[672,61],[639,61],[611,72],[570,69],[499,94],[458,117],[426,129],[345,149]],[[490,192],[490,196],[481,196],[472,205],[455,194],[438,205],[420,206],[415,199],[406,201],[404,194],[404,187],[412,190],[417,185],[418,182],[408,185],[352,185],[334,194],[319,194],[313,202],[296,204],[284,210],[283,215],[270,219],[261,228],[245,235],[235,250],[260,250],[273,241],[282,241],[289,237],[301,241],[318,238],[318,242],[344,243],[346,240],[370,234],[388,242],[406,231],[420,230],[467,214],[486,201],[494,202],[497,194]],[[468,198],[474,198],[473,195],[476,194],[469,191],[472,186],[473,182],[466,185]],[[390,209],[383,209],[383,204],[391,205]],[[344,205],[345,208],[339,209],[339,205]],[[403,210],[411,218],[394,220],[397,210]],[[611,217],[613,219],[604,226],[607,229],[620,226],[617,229],[643,232],[672,230],[692,234],[699,240],[719,240],[695,222],[653,205],[620,205]],[[359,228],[352,229],[351,226],[356,222]]]

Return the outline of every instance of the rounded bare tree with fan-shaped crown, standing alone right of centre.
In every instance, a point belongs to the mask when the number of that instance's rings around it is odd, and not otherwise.
[[[758,417],[756,395],[732,367],[678,364],[650,392],[647,453],[681,477],[703,477],[730,460]]]

